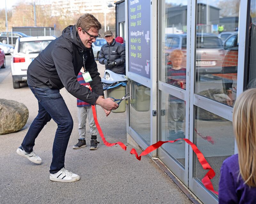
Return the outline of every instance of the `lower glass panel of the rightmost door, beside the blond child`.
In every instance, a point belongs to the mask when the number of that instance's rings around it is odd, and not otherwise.
[[[206,139],[212,137],[213,143]],[[219,189],[222,162],[234,154],[235,137],[232,122],[204,109],[195,107],[194,143],[203,153],[216,175],[212,179],[215,191]],[[199,183],[206,174],[194,153],[193,176]]]

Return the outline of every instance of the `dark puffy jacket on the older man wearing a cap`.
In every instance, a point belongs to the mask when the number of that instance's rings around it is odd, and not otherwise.
[[[116,61],[116,66],[105,68],[115,72],[117,74],[125,74],[125,47],[113,40],[111,45],[106,43],[100,49],[99,63],[104,64],[104,60],[107,59],[109,62]]]

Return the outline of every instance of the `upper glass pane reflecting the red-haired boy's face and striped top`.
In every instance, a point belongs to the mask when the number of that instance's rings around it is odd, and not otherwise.
[[[187,2],[166,0],[161,6],[161,81],[185,89]]]

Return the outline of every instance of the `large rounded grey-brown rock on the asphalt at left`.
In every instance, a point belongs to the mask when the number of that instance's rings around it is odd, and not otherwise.
[[[0,99],[0,135],[19,131],[27,120],[28,108],[23,103]]]

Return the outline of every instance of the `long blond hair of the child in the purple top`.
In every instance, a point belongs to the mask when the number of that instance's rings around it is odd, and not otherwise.
[[[233,128],[240,175],[245,184],[256,187],[256,88],[246,90],[236,100]]]

